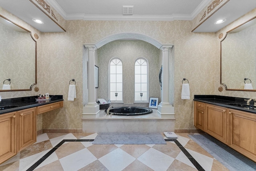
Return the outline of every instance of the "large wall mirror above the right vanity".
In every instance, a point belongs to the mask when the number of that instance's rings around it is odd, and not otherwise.
[[[256,91],[256,17],[220,42],[220,84],[226,90]]]

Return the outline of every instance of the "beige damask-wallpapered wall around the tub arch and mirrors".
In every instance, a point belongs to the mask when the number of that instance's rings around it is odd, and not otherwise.
[[[1,8],[0,13],[3,13]],[[246,20],[246,17],[241,20]],[[31,28],[24,23],[22,25],[25,28]],[[172,51],[174,64],[170,64],[175,71],[174,76],[171,76],[174,77],[174,89],[170,93],[174,93],[175,129],[194,129],[194,94],[256,98],[256,92],[249,94],[246,91],[218,91],[220,87],[220,39],[218,35],[223,30],[217,33],[192,33],[192,21],[82,20],[66,21],[65,29],[65,33],[40,33],[32,29],[39,35],[37,40],[38,84],[36,86],[39,87],[40,93],[48,92],[64,96],[64,107],[38,115],[37,129],[82,128],[83,89],[86,92],[86,86],[83,87],[82,84],[83,44],[95,44],[107,36],[122,32],[145,34],[162,44],[174,44],[175,51]],[[77,98],[74,101],[67,101],[68,83],[73,78],[76,80]],[[183,78],[189,80],[190,100],[181,99]],[[38,93],[32,90],[1,92],[0,95],[3,98],[11,98]]]

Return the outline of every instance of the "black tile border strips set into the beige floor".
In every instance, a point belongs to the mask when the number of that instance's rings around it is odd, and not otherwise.
[[[174,141],[176,145],[180,148],[180,150],[188,157],[188,159],[193,163],[193,165],[198,169],[198,171],[204,171],[204,168],[188,153],[188,151],[180,144],[180,142],[177,139],[164,139],[165,141]],[[53,147],[48,153],[46,153],[41,159],[36,161],[30,168],[27,169],[27,171],[33,171],[38,167],[47,157],[49,157],[58,147],[60,147],[65,142],[92,142],[94,139],[63,139],[58,143],[55,147]]]

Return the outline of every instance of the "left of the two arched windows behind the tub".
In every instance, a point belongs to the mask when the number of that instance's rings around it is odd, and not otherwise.
[[[122,61],[113,58],[109,63],[110,101],[123,101],[123,66]]]

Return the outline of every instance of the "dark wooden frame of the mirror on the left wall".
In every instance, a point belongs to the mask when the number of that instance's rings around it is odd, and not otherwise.
[[[0,14],[0,17],[4,18],[5,20],[11,22],[12,24],[14,24],[14,25],[16,25],[16,26],[18,26],[18,27],[20,27],[20,28],[26,30],[27,32],[29,32],[29,33],[30,33],[30,36],[31,36],[31,38],[32,38],[32,40],[34,40],[34,42],[35,42],[35,83],[33,83],[32,85],[30,85],[30,88],[29,88],[29,89],[6,89],[6,90],[0,89],[0,91],[31,91],[31,90],[32,90],[32,87],[37,84],[37,42],[36,42],[36,40],[33,38],[32,32],[31,32],[30,30],[28,30],[28,29],[26,29],[26,28],[24,28],[24,27],[22,27],[22,26],[16,24],[16,23],[13,22],[12,20],[9,20],[8,18],[2,16],[1,14]]]

